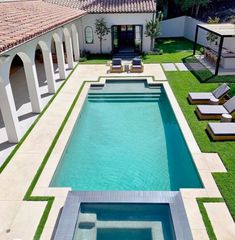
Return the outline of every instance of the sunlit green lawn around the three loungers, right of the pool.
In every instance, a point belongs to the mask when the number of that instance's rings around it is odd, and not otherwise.
[[[199,121],[194,113],[195,106],[190,105],[186,99],[188,92],[212,91],[218,83],[202,84],[191,72],[166,72],[166,76],[201,151],[217,152],[228,171],[227,173],[214,173],[213,176],[235,219],[235,142],[211,141],[205,131],[208,121]],[[224,78],[220,78],[222,82]],[[235,85],[231,86],[234,92]]]

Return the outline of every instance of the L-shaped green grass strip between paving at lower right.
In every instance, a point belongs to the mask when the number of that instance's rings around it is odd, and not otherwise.
[[[204,203],[215,203],[215,202],[224,202],[222,198],[197,198],[197,204],[199,206],[202,219],[204,221],[204,224],[206,226],[206,231],[209,235],[210,240],[217,240],[213,227],[211,225],[211,221],[209,219],[209,216],[207,214],[206,208],[204,206]]]

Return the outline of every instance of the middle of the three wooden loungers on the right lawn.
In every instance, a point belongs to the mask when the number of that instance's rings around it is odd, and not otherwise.
[[[235,112],[235,96],[223,105],[197,105],[196,114],[200,119],[221,119],[222,114]]]

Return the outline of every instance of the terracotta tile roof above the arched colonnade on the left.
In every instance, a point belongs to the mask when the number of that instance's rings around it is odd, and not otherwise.
[[[0,53],[85,13],[43,1],[1,2]]]

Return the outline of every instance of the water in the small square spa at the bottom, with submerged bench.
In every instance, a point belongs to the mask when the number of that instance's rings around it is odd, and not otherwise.
[[[168,204],[82,203],[78,222],[74,240],[175,239]]]

